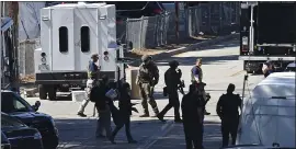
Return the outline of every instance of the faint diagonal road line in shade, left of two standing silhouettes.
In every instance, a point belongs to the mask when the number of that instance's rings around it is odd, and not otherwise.
[[[149,149],[158,141],[158,138],[166,136],[173,128],[173,121],[167,121],[167,123],[161,126],[161,134],[156,133],[143,146],[139,146],[137,149]]]

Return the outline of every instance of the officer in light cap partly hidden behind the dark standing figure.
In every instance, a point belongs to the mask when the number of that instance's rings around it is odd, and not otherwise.
[[[203,82],[203,69],[202,69],[202,59],[201,58],[197,58],[196,59],[196,64],[195,66],[193,66],[193,68],[191,69],[191,82],[195,85],[197,85],[197,83],[201,83]],[[205,98],[205,92],[203,93],[204,94],[204,99]],[[208,113],[206,110],[205,110],[205,115],[209,115],[210,113]]]

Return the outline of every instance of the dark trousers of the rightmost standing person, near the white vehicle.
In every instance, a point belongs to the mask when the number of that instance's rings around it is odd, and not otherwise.
[[[221,119],[223,147],[228,146],[229,135],[231,135],[231,145],[236,144],[238,123],[239,118],[229,117]]]

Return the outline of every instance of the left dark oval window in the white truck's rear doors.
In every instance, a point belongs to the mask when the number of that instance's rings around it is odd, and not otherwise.
[[[59,51],[68,51],[68,28],[66,26],[59,27]]]

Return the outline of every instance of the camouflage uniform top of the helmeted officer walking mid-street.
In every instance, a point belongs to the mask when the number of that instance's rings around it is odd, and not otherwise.
[[[158,83],[159,80],[159,70],[152,61],[146,66],[141,64],[139,66],[139,72],[137,77],[137,81],[141,83],[151,83],[152,80],[155,79],[156,83]]]

